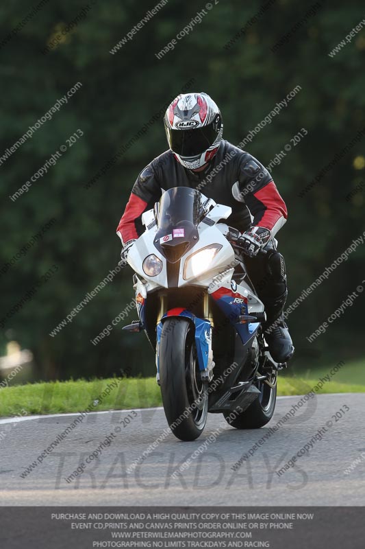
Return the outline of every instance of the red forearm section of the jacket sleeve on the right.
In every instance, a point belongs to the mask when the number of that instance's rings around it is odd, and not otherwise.
[[[246,202],[253,215],[254,225],[271,230],[281,218],[288,219],[285,202],[273,181],[247,197]]]

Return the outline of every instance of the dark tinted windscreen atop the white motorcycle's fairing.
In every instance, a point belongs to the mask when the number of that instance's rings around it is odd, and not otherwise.
[[[164,192],[160,199],[158,231],[177,231],[186,222],[196,227],[205,213],[205,201],[206,198],[199,191],[188,187],[175,187]]]

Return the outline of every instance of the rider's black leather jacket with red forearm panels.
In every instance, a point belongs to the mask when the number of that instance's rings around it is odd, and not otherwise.
[[[118,224],[117,234],[123,244],[142,234],[142,213],[153,208],[162,192],[181,186],[197,189],[217,203],[230,206],[227,224],[241,232],[259,225],[275,235],[288,216],[268,170],[251,154],[223,140],[203,172],[187,170],[171,150],[142,170]]]

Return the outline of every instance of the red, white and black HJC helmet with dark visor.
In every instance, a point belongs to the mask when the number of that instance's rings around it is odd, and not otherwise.
[[[168,106],[164,117],[168,146],[188,170],[209,162],[221,145],[221,111],[207,93],[183,93]]]

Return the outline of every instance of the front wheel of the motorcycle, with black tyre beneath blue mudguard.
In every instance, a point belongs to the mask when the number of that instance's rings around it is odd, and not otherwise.
[[[160,386],[168,425],[181,441],[194,441],[207,421],[207,382],[202,382],[194,326],[167,318],[160,340]]]

